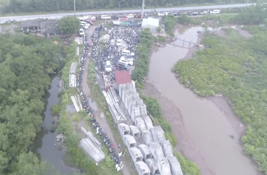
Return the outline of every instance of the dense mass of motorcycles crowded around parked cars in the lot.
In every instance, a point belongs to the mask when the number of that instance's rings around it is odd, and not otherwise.
[[[113,70],[120,70],[120,71],[123,71],[123,70],[126,71],[127,70],[123,66],[117,65],[117,62],[123,56],[121,54],[121,51],[123,49],[130,50],[133,53],[136,52],[135,47],[139,43],[139,36],[140,36],[141,27],[137,22],[135,22],[135,21],[132,21],[132,22],[136,23],[136,26],[138,26],[138,27],[131,28],[131,32],[129,33],[128,36],[123,36],[123,35],[121,35],[120,32],[116,32],[116,28],[109,29],[109,31],[108,31],[109,38],[110,38],[110,40],[111,39],[115,40],[115,45],[110,45],[109,42],[106,43],[104,46],[104,50],[102,50],[100,53],[99,53],[99,45],[97,44],[98,38],[92,37],[92,40],[95,40],[95,42],[92,46],[92,59],[93,59],[93,61],[97,62],[98,70],[101,74],[105,73],[106,61],[111,61],[111,64],[113,65]],[[127,43],[128,46],[127,47],[121,47],[119,50],[119,46],[116,45],[117,39],[122,39],[124,42]],[[103,47],[103,46],[101,46],[101,47]]]

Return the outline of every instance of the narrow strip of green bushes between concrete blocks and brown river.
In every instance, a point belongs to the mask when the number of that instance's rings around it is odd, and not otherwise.
[[[150,29],[144,29],[140,34],[139,45],[136,47],[138,51],[138,59],[135,62],[135,70],[132,75],[132,79],[136,81],[137,88],[142,88],[143,79],[147,76],[150,63],[150,51],[153,45],[153,35]],[[139,90],[140,91],[140,90]],[[143,99],[144,104],[147,106],[147,110],[150,114],[153,125],[160,125],[164,131],[167,140],[170,140],[173,147],[177,145],[177,140],[172,134],[172,125],[170,122],[164,120],[162,117],[162,110],[159,101],[156,98],[147,97],[139,92],[140,97]],[[174,155],[177,157],[181,164],[184,174],[200,175],[198,166],[186,158],[180,153],[174,150]]]

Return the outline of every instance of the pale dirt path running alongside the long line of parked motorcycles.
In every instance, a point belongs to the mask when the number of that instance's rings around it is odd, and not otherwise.
[[[85,33],[88,35],[88,39],[90,38],[90,33],[93,33],[94,30],[95,30],[95,26],[89,27],[89,29],[85,30]],[[89,52],[91,52],[91,49],[89,49]],[[90,97],[90,88],[87,84],[89,61],[92,61],[92,60],[88,58],[84,65],[83,85],[82,85],[82,89],[85,92],[87,97]],[[92,105],[92,104],[89,104],[89,105]],[[111,139],[112,143],[114,144],[114,147],[116,148],[116,153],[119,153],[119,150],[117,149],[118,144],[123,144],[123,143],[116,143],[112,130],[109,127],[108,121],[104,113],[101,111],[97,111],[95,118],[97,119],[98,123],[102,125],[102,128],[105,130],[105,133],[107,134],[107,136]],[[124,175],[130,175],[129,170],[125,164],[121,171],[123,172]]]

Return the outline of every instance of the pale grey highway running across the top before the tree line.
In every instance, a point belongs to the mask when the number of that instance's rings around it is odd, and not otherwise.
[[[238,8],[250,6],[255,3],[249,4],[228,4],[228,5],[213,5],[213,6],[193,6],[193,7],[172,7],[172,8],[159,8],[156,11],[185,11],[185,10],[202,10],[202,9],[227,9],[227,8]],[[151,12],[153,9],[145,9],[145,12]],[[113,13],[140,13],[141,9],[136,10],[114,10],[114,11],[88,11],[88,12],[77,12],[76,15],[101,15],[101,14],[113,14]],[[37,15],[26,15],[26,16],[10,16],[0,17],[0,23],[8,21],[26,21],[34,20],[38,18],[42,19],[60,19],[63,16],[74,15],[74,13],[54,13],[54,14],[37,14]]]

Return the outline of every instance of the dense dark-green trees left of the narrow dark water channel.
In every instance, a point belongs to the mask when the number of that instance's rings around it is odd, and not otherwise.
[[[0,174],[40,174],[38,158],[28,153],[41,130],[48,74],[64,62],[56,39],[0,35]]]

